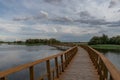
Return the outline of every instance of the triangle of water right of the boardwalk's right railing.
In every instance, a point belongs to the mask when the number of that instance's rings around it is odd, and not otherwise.
[[[97,50],[103,53],[116,66],[116,68],[120,70],[120,50]]]

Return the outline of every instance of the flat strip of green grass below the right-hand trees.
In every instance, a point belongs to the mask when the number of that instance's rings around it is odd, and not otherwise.
[[[113,50],[120,50],[120,45],[112,45],[112,44],[98,44],[98,45],[90,45],[96,49],[113,49]]]

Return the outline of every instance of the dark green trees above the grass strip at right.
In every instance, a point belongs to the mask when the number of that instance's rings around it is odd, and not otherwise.
[[[120,36],[114,36],[109,38],[107,35],[103,34],[102,36],[94,36],[88,42],[89,45],[95,44],[120,44]]]

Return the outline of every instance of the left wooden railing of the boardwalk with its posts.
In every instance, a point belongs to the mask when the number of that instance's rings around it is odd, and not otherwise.
[[[78,48],[75,46],[65,52],[2,71],[0,72],[0,80],[8,80],[7,79],[8,75],[11,75],[13,73],[19,72],[24,69],[29,69],[30,80],[35,80],[34,66],[37,64],[41,64],[42,62],[46,63],[46,70],[47,70],[47,73],[43,75],[47,76],[47,80],[55,80],[55,78],[59,77],[61,72],[64,72],[64,69],[68,66],[74,55],[77,53],[77,50]],[[60,58],[60,63],[58,57]],[[54,60],[54,64],[55,64],[55,67],[53,69],[50,66],[51,60]],[[44,76],[41,76],[38,80],[46,80],[46,79],[44,78]]]

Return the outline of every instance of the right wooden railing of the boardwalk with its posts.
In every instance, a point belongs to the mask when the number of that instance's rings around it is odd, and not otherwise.
[[[90,46],[81,45],[88,53],[98,71],[100,80],[120,80],[120,73],[115,66],[101,53]]]

